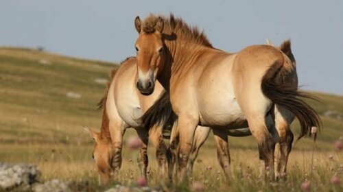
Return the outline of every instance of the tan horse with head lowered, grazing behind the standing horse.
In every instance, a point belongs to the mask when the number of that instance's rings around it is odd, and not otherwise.
[[[151,95],[141,95],[137,91],[137,88],[134,86],[134,82],[137,81],[137,59],[134,57],[127,58],[121,62],[119,69],[113,69],[110,74],[110,81],[108,82],[105,95],[98,104],[99,108],[103,108],[100,132],[85,128],[95,141],[92,156],[99,173],[99,183],[106,184],[111,177],[117,177],[122,161],[123,134],[127,128],[134,128],[141,140],[138,157],[141,176],[144,178],[147,176],[147,145],[150,138],[150,141],[156,147],[158,172],[163,177],[165,175],[167,147],[163,141],[162,128],[167,121],[158,125],[152,125],[154,129],[147,129],[145,126],[150,124],[148,122],[141,122],[139,118],[150,109],[158,98],[160,102],[166,98],[169,101],[167,93],[165,93],[161,84],[158,83],[156,83],[154,93]],[[163,113],[165,114],[165,111]],[[206,127],[197,130],[196,144],[193,145],[192,149],[192,162],[196,159],[198,151],[209,132],[210,129]],[[193,163],[189,166],[189,169],[191,169]]]

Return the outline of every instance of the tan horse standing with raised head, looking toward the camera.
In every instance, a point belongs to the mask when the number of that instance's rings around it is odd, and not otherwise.
[[[198,125],[210,126],[217,143],[227,146],[226,132],[250,128],[257,140],[265,171],[274,180],[274,149],[279,145],[279,167],[287,167],[289,125],[300,121],[298,139],[320,127],[316,111],[298,91],[296,61],[290,41],[281,47],[252,45],[237,53],[212,47],[196,27],[189,27],[172,14],[169,18],[151,14],[134,21],[139,33],[137,88],[144,95],[154,91],[156,80],[169,93],[178,120],[177,173],[185,176],[194,133]],[[275,132],[268,131],[273,124]]]

